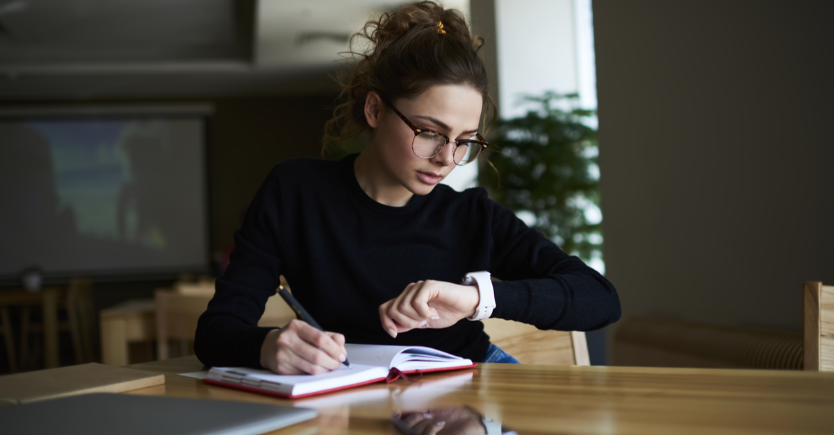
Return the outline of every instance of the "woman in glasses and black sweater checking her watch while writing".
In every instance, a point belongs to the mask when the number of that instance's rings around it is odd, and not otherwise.
[[[477,53],[483,39],[470,36],[465,18],[420,2],[369,21],[359,36],[370,47],[328,128],[341,126],[340,139],[368,133],[366,148],[338,162],[275,166],[200,318],[198,358],[324,373],[344,361],[347,341],[515,362],[477,320],[560,330],[615,322],[619,299],[599,273],[484,189],[457,193],[438,184],[487,146],[478,133],[482,107],[495,113]],[[296,320],[257,327],[282,274],[329,333]]]

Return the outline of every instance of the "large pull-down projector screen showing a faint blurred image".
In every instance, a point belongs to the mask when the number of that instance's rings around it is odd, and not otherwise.
[[[208,268],[204,118],[0,119],[0,278]]]

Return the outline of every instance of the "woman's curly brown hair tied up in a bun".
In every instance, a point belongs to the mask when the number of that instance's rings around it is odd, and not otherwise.
[[[350,38],[369,41],[364,52],[349,52],[359,62],[339,77],[340,97],[333,117],[324,125],[322,143],[344,143],[370,130],[364,117],[365,97],[378,92],[389,101],[414,97],[437,85],[470,86],[492,108],[489,126],[498,108],[489,94],[489,80],[478,50],[483,37],[472,37],[463,13],[435,2],[418,2],[372,18]],[[486,126],[486,112],[484,120]],[[489,130],[489,126],[486,130]],[[323,150],[324,151],[324,150]]]

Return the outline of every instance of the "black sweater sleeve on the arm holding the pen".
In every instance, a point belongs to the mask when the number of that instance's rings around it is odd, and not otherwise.
[[[274,328],[259,328],[269,297],[280,283],[280,187],[277,167],[255,195],[234,234],[229,268],[200,316],[194,353],[211,367],[260,368],[260,348]]]

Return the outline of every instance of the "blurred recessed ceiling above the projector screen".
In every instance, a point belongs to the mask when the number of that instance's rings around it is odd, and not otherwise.
[[[0,100],[334,92],[350,35],[399,3],[0,0]]]

